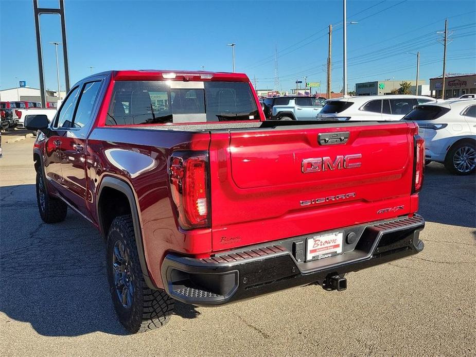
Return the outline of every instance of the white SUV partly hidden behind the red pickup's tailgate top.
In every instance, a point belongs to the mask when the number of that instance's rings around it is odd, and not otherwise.
[[[358,96],[326,100],[319,120],[400,120],[416,105],[436,99],[412,95]]]

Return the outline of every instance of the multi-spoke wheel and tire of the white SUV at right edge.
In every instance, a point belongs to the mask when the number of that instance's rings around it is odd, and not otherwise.
[[[476,170],[474,142],[463,141],[454,145],[446,154],[445,168],[454,175],[469,175]]]

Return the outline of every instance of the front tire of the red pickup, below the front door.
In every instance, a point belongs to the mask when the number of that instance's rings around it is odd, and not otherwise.
[[[60,199],[53,198],[48,194],[41,168],[37,170],[36,191],[38,210],[43,222],[57,223],[64,221],[68,212],[68,206]]]

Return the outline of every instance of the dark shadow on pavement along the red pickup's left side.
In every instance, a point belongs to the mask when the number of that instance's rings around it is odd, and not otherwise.
[[[0,310],[7,326],[14,319],[45,336],[128,334],[115,316],[97,230],[72,210],[64,222],[45,224],[34,185],[0,187],[0,204]],[[174,314],[200,313],[177,303]]]

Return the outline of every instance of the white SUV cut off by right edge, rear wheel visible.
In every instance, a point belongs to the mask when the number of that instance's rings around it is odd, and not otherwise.
[[[476,100],[418,105],[404,120],[416,121],[425,138],[426,163],[436,161],[457,175],[476,168]]]

